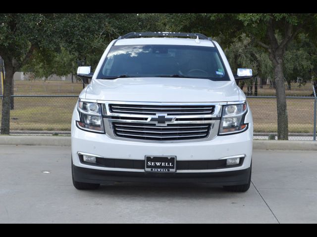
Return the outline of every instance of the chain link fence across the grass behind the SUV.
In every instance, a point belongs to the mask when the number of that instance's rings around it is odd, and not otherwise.
[[[77,95],[15,95],[14,110],[10,112],[10,131],[12,134],[36,131],[69,134],[77,99]],[[289,140],[313,140],[315,100],[315,97],[287,97]],[[254,138],[268,139],[271,134],[270,137],[277,139],[276,98],[248,96],[247,101],[253,113]]]

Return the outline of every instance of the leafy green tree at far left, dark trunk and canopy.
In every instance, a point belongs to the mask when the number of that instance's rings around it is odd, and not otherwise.
[[[10,130],[13,74],[36,59],[39,63],[33,62],[33,66],[38,73],[47,75],[54,70],[57,74],[65,73],[53,59],[65,53],[62,47],[71,54],[75,52],[75,57],[79,59],[84,59],[87,52],[101,52],[102,47],[107,45],[104,39],[108,33],[109,17],[109,14],[0,14],[0,55],[6,71],[1,134],[9,134]],[[93,60],[93,57],[88,60]],[[47,65],[51,66],[45,69]]]

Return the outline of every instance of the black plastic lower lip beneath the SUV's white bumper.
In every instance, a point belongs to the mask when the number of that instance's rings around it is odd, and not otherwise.
[[[82,168],[72,164],[73,177],[77,182],[106,184],[109,182],[207,182],[214,185],[243,185],[249,182],[250,168],[212,173],[151,173],[106,171]]]

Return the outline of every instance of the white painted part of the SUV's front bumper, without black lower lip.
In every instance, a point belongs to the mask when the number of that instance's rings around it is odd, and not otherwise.
[[[133,169],[110,169],[84,164],[80,162],[78,152],[103,158],[131,160],[144,160],[145,156],[176,156],[179,161],[218,160],[243,155],[244,162],[241,166],[215,169],[214,172],[242,170],[249,168],[251,164],[252,132],[252,129],[248,129],[242,133],[217,136],[211,141],[203,142],[144,143],[111,139],[106,134],[83,131],[74,125],[71,137],[72,158],[73,164],[78,167],[108,171],[133,171]]]

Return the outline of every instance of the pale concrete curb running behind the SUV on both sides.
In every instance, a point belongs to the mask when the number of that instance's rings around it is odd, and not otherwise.
[[[70,147],[71,138],[69,136],[15,136],[1,135],[0,145],[20,145],[20,146],[60,146]],[[316,141],[253,141],[254,150],[298,150],[317,151]]]

